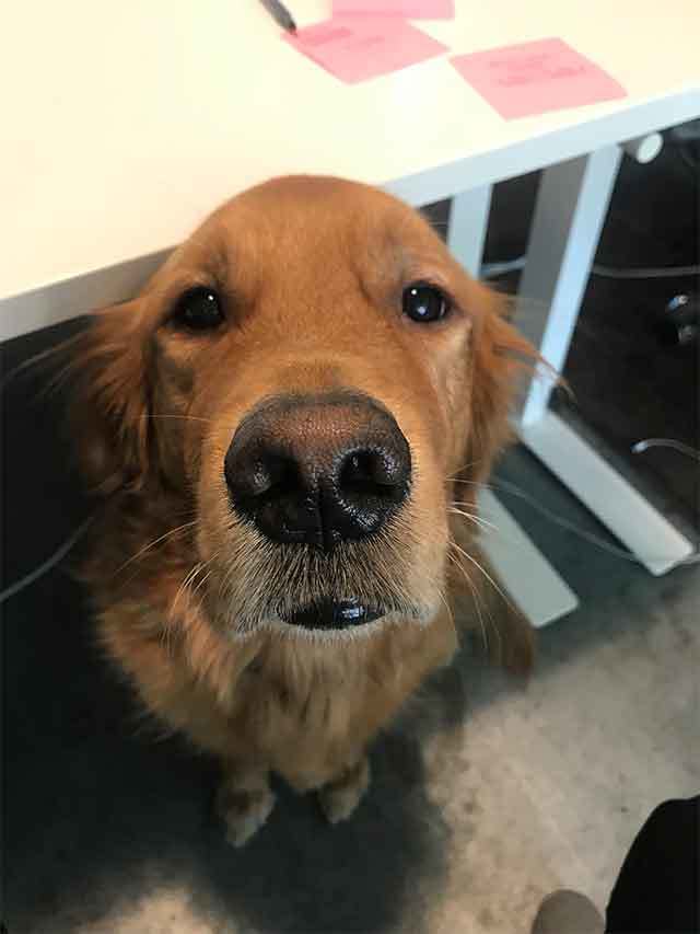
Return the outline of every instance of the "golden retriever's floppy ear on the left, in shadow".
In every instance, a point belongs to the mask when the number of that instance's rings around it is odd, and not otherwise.
[[[98,311],[73,348],[71,443],[93,492],[138,489],[150,471],[148,360],[140,300]]]

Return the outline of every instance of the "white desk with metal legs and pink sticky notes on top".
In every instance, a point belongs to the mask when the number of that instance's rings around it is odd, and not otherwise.
[[[330,4],[290,5],[303,25]],[[346,87],[282,43],[256,0],[25,0],[3,25],[0,338],[125,298],[218,203],[290,172],[383,185],[417,206],[458,196],[450,243],[478,270],[491,184],[552,166],[524,275],[524,290],[551,313],[523,321],[561,366],[618,145],[700,115],[697,0],[457,0],[454,21],[421,23],[454,53],[560,36],[629,92],[513,122],[442,58]],[[559,457],[561,426],[546,402],[546,390],[533,387],[526,443],[574,487],[596,477],[586,501],[650,569],[689,554],[691,543],[654,510],[640,538],[627,484],[629,501],[618,499],[617,518],[607,515],[597,486],[610,469],[579,439],[575,453]],[[573,602],[551,581],[559,596],[534,607],[535,616]],[[517,598],[521,585],[508,583]]]

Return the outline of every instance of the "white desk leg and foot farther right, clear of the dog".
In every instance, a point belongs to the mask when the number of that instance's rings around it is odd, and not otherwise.
[[[602,149],[542,174],[514,322],[563,369],[622,150]],[[692,543],[586,441],[548,411],[552,381],[536,377],[521,412],[525,445],[648,567],[663,574]]]

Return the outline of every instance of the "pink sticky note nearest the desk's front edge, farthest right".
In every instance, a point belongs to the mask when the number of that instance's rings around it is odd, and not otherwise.
[[[450,60],[505,119],[627,96],[621,84],[562,39],[522,43]]]

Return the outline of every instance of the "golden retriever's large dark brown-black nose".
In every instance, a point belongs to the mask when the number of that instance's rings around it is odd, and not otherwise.
[[[268,539],[329,551],[376,532],[396,511],[411,456],[370,397],[281,396],[242,422],[224,474],[236,512]]]

